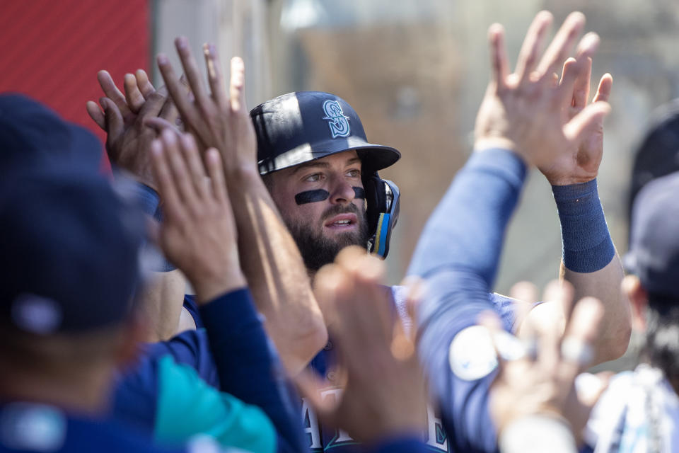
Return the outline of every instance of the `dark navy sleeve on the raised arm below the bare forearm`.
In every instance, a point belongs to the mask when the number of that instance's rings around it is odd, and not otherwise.
[[[200,307],[221,390],[262,408],[279,434],[279,452],[306,451],[298,398],[284,378],[248,289]]]

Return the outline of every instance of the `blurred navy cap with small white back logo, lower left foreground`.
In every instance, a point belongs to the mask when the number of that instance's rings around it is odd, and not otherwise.
[[[59,166],[0,187],[0,323],[49,335],[126,319],[139,282],[141,212],[103,176]]]

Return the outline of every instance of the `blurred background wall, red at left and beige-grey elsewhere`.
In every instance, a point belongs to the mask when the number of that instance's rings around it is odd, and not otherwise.
[[[613,239],[627,248],[627,187],[634,147],[651,112],[679,96],[676,0],[0,0],[0,91],[23,91],[93,127],[84,103],[97,99],[96,71],[150,69],[173,38],[194,52],[219,45],[224,68],[242,55],[250,107],[282,93],[336,93],[361,115],[368,139],[400,149],[383,171],[402,205],[388,258],[400,281],[419,232],[472,148],[488,80],[486,30],[507,30],[510,59],[535,13],[560,23],[583,11],[600,34],[593,85],[613,74],[599,187]],[[95,130],[95,127],[93,127]],[[100,134],[103,137],[103,134]],[[455,219],[451,219],[455,222]],[[481,234],[481,232],[480,232]],[[533,172],[511,227],[496,290],[557,275],[561,241],[550,188]]]

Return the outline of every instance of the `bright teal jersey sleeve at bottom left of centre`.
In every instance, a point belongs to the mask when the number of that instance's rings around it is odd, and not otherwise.
[[[158,382],[154,430],[158,442],[178,445],[201,433],[222,447],[253,453],[276,451],[276,432],[267,415],[209,386],[195,369],[176,363],[169,355],[162,357]]]

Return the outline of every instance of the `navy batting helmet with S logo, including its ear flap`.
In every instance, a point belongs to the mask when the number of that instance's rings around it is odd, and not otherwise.
[[[265,175],[356,150],[366,190],[368,250],[385,257],[399,212],[399,190],[377,171],[394,164],[400,152],[372,144],[361,119],[347,101],[322,91],[297,91],[266,101],[250,111],[257,134],[257,161]]]

